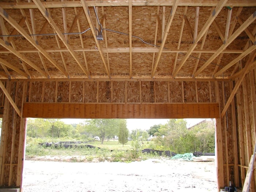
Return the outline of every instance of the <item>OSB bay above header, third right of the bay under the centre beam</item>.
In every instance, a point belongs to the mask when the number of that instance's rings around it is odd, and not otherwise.
[[[170,102],[182,102],[182,83],[183,82],[170,82]]]

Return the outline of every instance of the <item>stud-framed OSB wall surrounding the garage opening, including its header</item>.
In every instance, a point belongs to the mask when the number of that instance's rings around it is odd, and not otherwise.
[[[16,114],[7,99],[1,97],[4,99],[4,114],[1,135],[3,139],[1,139],[0,146],[0,163],[2,165],[0,186],[22,187],[26,117],[113,118],[113,114],[116,114],[113,112],[118,110],[128,113],[123,113],[124,116],[116,116],[117,118],[161,118],[161,115],[162,118],[168,118],[168,116],[169,118],[195,118],[203,117],[202,114],[204,117],[216,118],[215,143],[218,188],[227,186],[230,180],[237,187],[243,185],[249,157],[251,157],[253,150],[252,145],[255,143],[255,70],[246,74],[225,113],[226,115],[222,118],[220,118],[220,114],[225,106],[225,100],[229,98],[236,81],[86,81],[78,79],[75,81],[25,80],[3,83],[21,110],[22,117]],[[248,84],[254,86],[247,87]],[[159,102],[161,101],[159,100],[161,95],[157,93],[159,89],[161,89],[160,94],[167,95],[162,97],[164,102]],[[177,93],[176,97],[173,93],[174,90]],[[3,95],[2,91],[0,94]],[[124,102],[125,100],[130,102]],[[186,100],[190,102],[186,103]],[[74,113],[71,113],[72,116],[69,116],[70,113],[65,114],[67,106],[69,106],[68,109],[74,109]],[[198,108],[198,106],[202,108]],[[170,107],[172,110],[168,112],[166,109]],[[88,112],[84,112],[84,108],[89,109]],[[163,112],[160,113],[160,116],[155,116],[158,109]],[[176,109],[187,116],[172,116],[173,113],[177,113]],[[209,109],[214,110],[211,113]],[[202,110],[203,113],[197,113],[202,112]],[[47,111],[49,116],[44,111]],[[246,113],[249,114],[248,117]],[[13,114],[15,114],[15,118],[13,118]],[[147,114],[154,115],[147,116]],[[192,116],[189,116],[190,114]],[[15,129],[11,128],[12,125]],[[248,132],[248,130],[250,131]],[[11,140],[10,144],[7,144],[7,140]],[[7,162],[7,159],[10,161]],[[254,172],[251,185],[252,192],[254,191],[255,176]]]

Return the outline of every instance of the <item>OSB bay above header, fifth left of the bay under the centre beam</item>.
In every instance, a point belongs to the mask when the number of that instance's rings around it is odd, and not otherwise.
[[[58,82],[57,102],[69,102],[69,82]]]

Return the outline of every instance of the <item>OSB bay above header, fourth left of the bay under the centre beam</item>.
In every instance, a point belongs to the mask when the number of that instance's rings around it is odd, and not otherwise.
[[[72,81],[71,82],[71,98],[70,102],[83,102],[83,82]]]

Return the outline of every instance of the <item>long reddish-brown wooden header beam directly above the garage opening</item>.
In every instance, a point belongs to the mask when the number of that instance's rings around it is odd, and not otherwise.
[[[218,118],[218,103],[24,103],[34,118]]]

